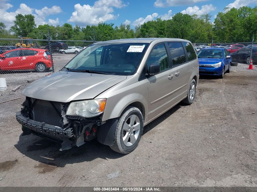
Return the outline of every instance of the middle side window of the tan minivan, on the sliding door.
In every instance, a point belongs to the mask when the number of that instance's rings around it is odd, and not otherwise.
[[[179,42],[168,43],[168,46],[172,56],[173,66],[186,62],[185,52],[181,43]]]

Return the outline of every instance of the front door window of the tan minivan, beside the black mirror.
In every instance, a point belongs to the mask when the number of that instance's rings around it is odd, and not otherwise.
[[[169,68],[168,56],[164,44],[157,45],[152,50],[147,61],[148,69],[151,63],[158,63],[160,65],[160,71]]]

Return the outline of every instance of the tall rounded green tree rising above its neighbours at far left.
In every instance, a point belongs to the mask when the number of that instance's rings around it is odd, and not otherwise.
[[[15,16],[14,25],[10,31],[17,37],[27,37],[36,28],[35,17],[31,14]]]

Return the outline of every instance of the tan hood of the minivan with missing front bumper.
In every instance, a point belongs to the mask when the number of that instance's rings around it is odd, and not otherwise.
[[[58,71],[23,89],[24,96],[57,102],[93,99],[127,76]]]

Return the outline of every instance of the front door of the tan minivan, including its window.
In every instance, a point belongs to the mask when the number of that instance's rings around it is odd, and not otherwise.
[[[178,88],[178,82],[175,82],[175,70],[170,68],[168,61],[164,44],[155,46],[148,58],[148,69],[151,63],[160,65],[160,72],[147,78],[148,120],[154,119],[175,104],[173,91]]]

